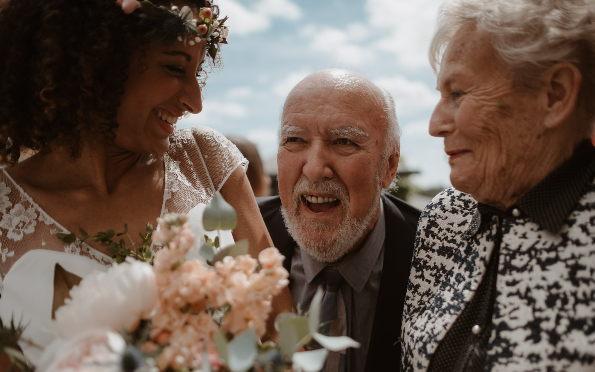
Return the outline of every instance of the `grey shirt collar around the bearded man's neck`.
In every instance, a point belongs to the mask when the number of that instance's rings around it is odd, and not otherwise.
[[[302,254],[303,272],[306,280],[311,283],[312,280],[331,265],[339,270],[339,273],[345,278],[345,281],[356,291],[361,292],[364,289],[369,276],[374,270],[378,261],[378,256],[384,246],[384,237],[386,236],[386,221],[384,221],[384,206],[380,201],[380,215],[374,224],[374,228],[368,233],[368,236],[358,251],[351,252],[334,264],[321,262],[309,255],[300,248]]]

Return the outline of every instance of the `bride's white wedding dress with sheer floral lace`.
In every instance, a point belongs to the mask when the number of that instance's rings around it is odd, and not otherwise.
[[[174,132],[163,158],[161,216],[186,213],[196,236],[204,235],[202,212],[206,204],[237,167],[246,170],[248,161],[226,137],[207,127]],[[111,257],[79,240],[66,244],[57,233],[68,231],[1,168],[0,318],[5,324],[10,324],[11,318],[28,324],[24,336],[39,346],[48,345],[54,338],[51,311],[55,265],[59,263],[68,272],[84,277],[112,264]],[[201,240],[195,243],[195,254]],[[221,232],[220,241],[222,246],[233,243],[231,232]],[[30,345],[21,344],[21,348],[33,362],[41,353]]]

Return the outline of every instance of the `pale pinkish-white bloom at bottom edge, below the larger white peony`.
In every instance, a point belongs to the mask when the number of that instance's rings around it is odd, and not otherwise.
[[[57,340],[41,357],[40,372],[120,372],[126,341],[111,329],[93,329]]]

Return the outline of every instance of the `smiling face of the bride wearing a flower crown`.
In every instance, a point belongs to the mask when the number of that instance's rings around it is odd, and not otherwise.
[[[202,110],[196,77],[205,52],[204,40],[193,45],[177,41],[173,47],[158,43],[134,52],[116,119],[119,148],[148,154],[167,151],[177,118],[184,111]]]

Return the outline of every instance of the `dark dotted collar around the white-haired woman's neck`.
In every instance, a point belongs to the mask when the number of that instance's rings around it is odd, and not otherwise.
[[[595,147],[584,140],[572,157],[541,180],[506,211],[478,203],[464,237],[474,236],[494,215],[531,218],[539,226],[557,233],[595,177]],[[516,210],[516,211],[515,211]],[[516,213],[515,213],[516,212]]]

